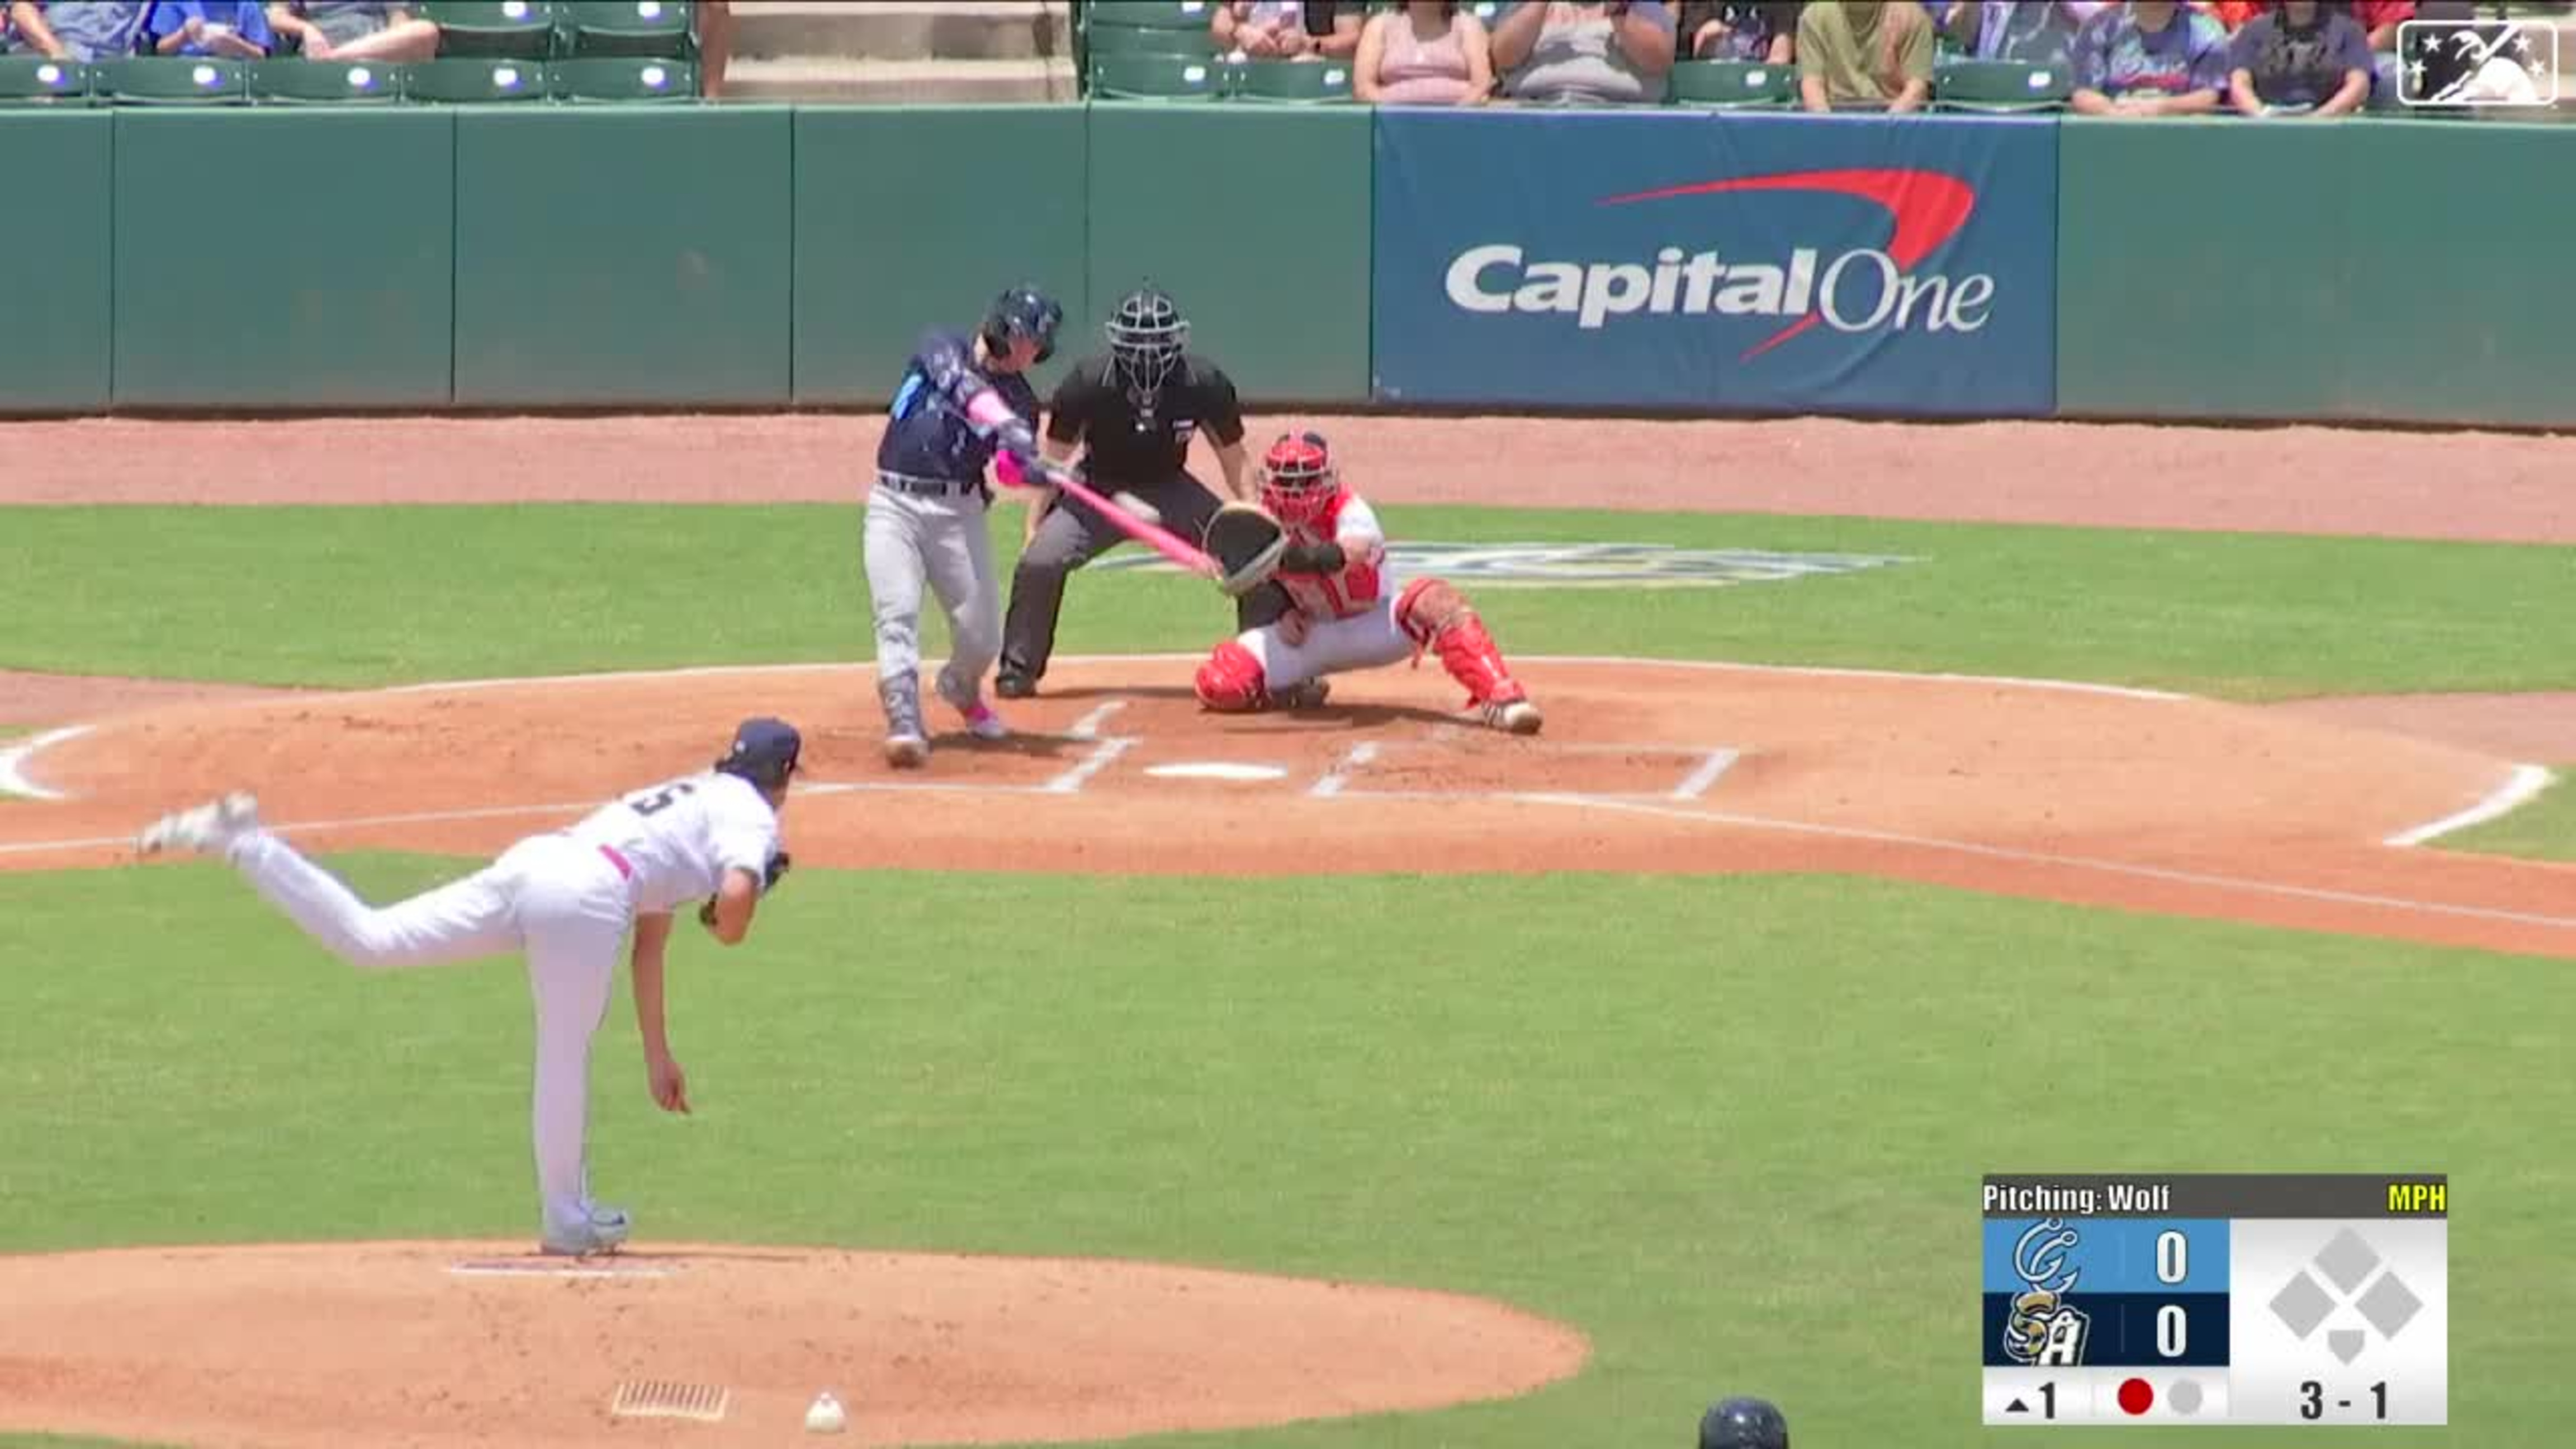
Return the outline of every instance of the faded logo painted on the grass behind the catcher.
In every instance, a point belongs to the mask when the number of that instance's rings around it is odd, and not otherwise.
[[[1783,554],[1672,544],[1391,544],[1396,578],[1437,575],[1481,588],[1726,588],[1862,572],[1911,562],[1896,554]],[[1162,554],[1118,552],[1095,570],[1175,572]]]

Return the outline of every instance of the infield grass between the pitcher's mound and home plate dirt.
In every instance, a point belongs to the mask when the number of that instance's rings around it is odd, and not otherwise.
[[[459,869],[335,864],[379,900]],[[0,1116],[0,1245],[533,1230],[515,962],[358,977],[209,864],[0,877],[0,920],[26,941],[0,1093],[41,1104]],[[1507,1297],[1582,1325],[1592,1369],[1185,1441],[1564,1449],[1680,1441],[1718,1392],[1777,1397],[1819,1444],[1984,1444],[1976,1183],[1999,1165],[2434,1163],[2478,1183],[2452,1225],[2478,1374],[2452,1431],[2372,1441],[2545,1444],[2576,1410],[2576,1160],[2530,1137],[2576,1114],[2535,1011],[2561,975],[1826,877],[817,869],[742,954],[675,946],[696,1116],[652,1111],[611,1008],[595,1173],[639,1240]]]

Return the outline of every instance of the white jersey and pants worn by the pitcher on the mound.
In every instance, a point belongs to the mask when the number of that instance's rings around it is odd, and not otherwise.
[[[528,954],[536,1186],[546,1238],[556,1243],[580,1240],[592,1225],[590,1039],[608,1013],[618,944],[636,915],[706,900],[726,871],[765,879],[778,853],[778,815],[747,779],[701,771],[603,804],[567,830],[531,835],[471,877],[384,908],[358,900],[255,817],[219,848],[307,936],[358,969]]]

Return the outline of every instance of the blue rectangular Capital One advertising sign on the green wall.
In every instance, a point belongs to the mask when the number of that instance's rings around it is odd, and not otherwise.
[[[1376,397],[2048,415],[2056,126],[1381,111]]]

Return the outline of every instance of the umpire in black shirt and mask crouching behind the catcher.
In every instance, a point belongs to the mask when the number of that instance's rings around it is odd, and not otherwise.
[[[1208,485],[1190,477],[1190,438],[1206,433],[1216,449],[1229,498],[1252,498],[1234,379],[1188,348],[1190,320],[1151,286],[1118,299],[1105,333],[1108,353],[1077,361],[1056,384],[1046,413],[1046,462],[1061,467],[1082,449],[1074,472],[1087,474],[1095,492],[1126,492],[1164,529],[1198,541],[1218,503]],[[1010,575],[1002,668],[994,676],[1002,699],[1038,691],[1056,652],[1066,575],[1121,541],[1126,534],[1082,500],[1041,490]],[[1236,627],[1249,624],[1236,608]]]

